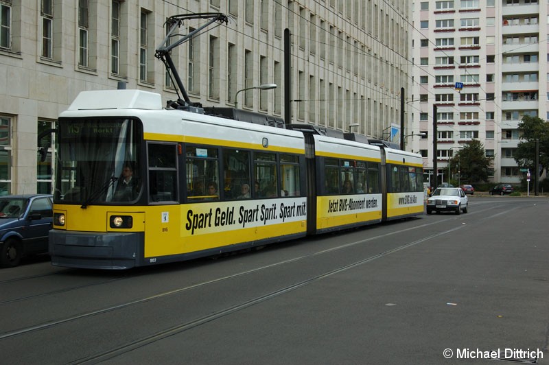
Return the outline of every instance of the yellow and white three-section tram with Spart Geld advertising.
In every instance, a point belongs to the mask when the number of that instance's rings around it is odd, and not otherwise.
[[[80,93],[59,118],[52,263],[126,269],[423,213],[421,156],[222,111]]]

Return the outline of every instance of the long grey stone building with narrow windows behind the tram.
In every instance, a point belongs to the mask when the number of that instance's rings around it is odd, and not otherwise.
[[[293,122],[379,138],[399,123],[411,80],[408,0],[0,0],[0,194],[51,192],[51,129],[80,91],[123,83],[176,99],[154,51],[169,16],[198,12],[230,21],[172,52],[193,102],[234,106],[238,91],[274,83],[238,93],[237,104],[283,117],[288,28]]]

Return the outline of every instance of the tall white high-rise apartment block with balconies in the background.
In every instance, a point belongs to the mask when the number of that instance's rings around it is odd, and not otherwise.
[[[479,139],[494,156],[490,179],[519,183],[517,126],[524,115],[549,120],[548,6],[539,0],[414,0],[408,105],[410,129],[425,134],[412,148],[423,154],[428,174],[434,138],[439,181],[448,180],[449,158]]]

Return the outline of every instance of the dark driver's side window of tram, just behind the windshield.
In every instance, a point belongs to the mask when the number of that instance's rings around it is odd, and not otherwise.
[[[148,158],[150,201],[177,201],[176,145],[150,143]]]

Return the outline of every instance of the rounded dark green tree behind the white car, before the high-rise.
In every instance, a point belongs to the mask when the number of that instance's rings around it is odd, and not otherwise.
[[[486,156],[484,145],[478,139],[473,139],[449,160],[449,164],[452,174],[459,172],[463,180],[469,183],[486,183],[492,161],[492,156]]]

